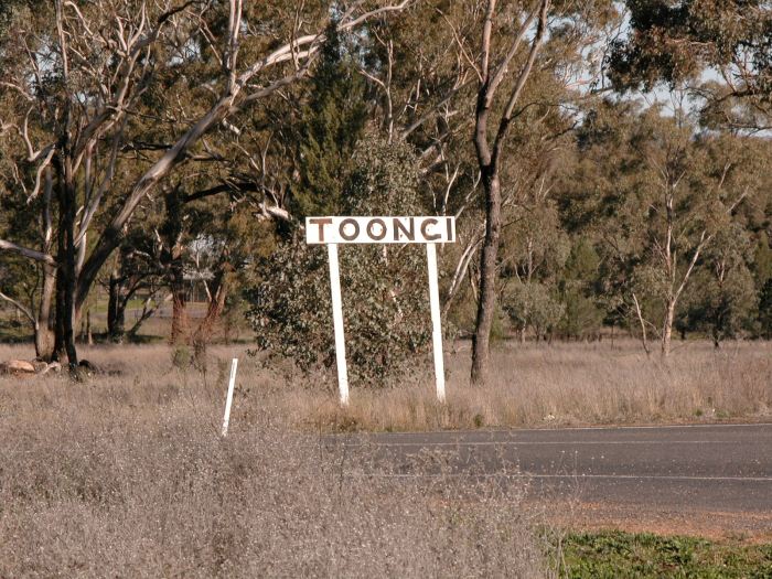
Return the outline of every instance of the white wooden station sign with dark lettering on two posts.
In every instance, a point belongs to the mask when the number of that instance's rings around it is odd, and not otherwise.
[[[442,360],[442,324],[440,293],[437,282],[437,244],[455,242],[455,217],[305,217],[305,243],[326,245],[330,259],[332,321],[335,331],[335,361],[341,405],[349,404],[349,372],[346,369],[343,333],[343,299],[337,266],[339,244],[423,244],[429,269],[429,305],[431,337],[435,351],[437,398],[444,401],[444,364]]]

